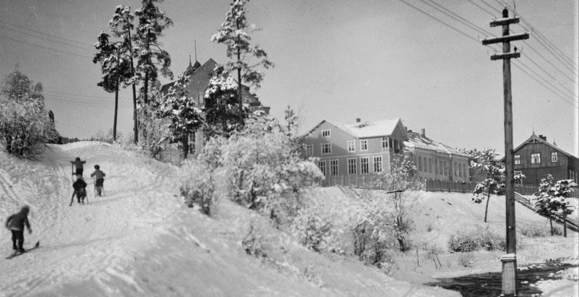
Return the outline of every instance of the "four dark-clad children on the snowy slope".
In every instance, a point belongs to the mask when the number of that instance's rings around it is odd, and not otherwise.
[[[82,173],[83,164],[85,164],[86,161],[81,161],[80,157],[76,157],[76,159],[71,161],[71,163],[76,169],[72,173],[73,175],[76,175],[76,181],[72,184],[74,192],[72,192],[71,205],[75,195],[78,203],[84,204],[86,198],[86,182],[82,178]],[[96,194],[101,196],[105,173],[100,170],[100,166],[95,165],[94,172],[90,174],[90,177],[95,178],[94,189],[97,192]],[[14,252],[25,252],[22,246],[24,244],[24,227],[28,228],[28,233],[32,233],[30,222],[28,222],[28,212],[30,212],[30,207],[23,206],[19,212],[10,215],[6,219],[6,229],[9,229],[10,232],[12,232],[12,250],[14,250]]]

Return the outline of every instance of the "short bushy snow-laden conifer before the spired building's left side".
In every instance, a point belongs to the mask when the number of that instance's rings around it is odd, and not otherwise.
[[[201,109],[189,94],[189,77],[179,74],[173,86],[163,96],[159,108],[160,116],[171,121],[168,140],[181,142],[185,159],[189,153],[189,137],[203,125]]]

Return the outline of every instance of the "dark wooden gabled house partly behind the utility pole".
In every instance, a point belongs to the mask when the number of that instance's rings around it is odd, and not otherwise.
[[[505,162],[505,158],[501,159]],[[534,131],[529,139],[513,150],[513,163],[516,174],[524,174],[523,185],[536,185],[541,178],[551,174],[555,181],[573,179],[577,182],[579,160],[560,149],[554,143],[547,142],[547,137],[535,135]]]

